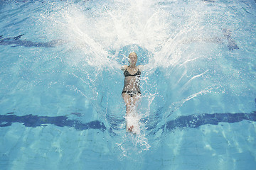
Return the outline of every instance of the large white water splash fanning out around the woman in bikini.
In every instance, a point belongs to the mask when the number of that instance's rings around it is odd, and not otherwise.
[[[217,9],[223,8],[221,3],[111,1],[98,4],[91,1],[83,5],[51,5],[53,11],[38,21],[47,17],[50,24],[45,26],[49,35],[58,34],[69,41],[62,61],[68,65],[68,74],[80,81],[80,86],[67,86],[93,103],[107,128],[112,127],[109,118],[116,116],[120,120],[120,115],[124,115],[124,107],[116,108],[124,105],[119,68],[127,64],[131,51],[139,55],[138,64],[145,65],[141,84],[144,101],[139,108],[144,115],[139,120],[163,108],[163,114],[158,117],[162,125],[170,113],[198,96],[219,91],[239,94],[238,89],[250,86],[235,85],[251,79],[241,78],[240,72],[222,55],[228,51],[222,32],[228,23],[223,24],[225,14],[218,13]],[[208,18],[212,13],[215,15]],[[225,80],[230,76],[229,69],[234,71],[233,86]],[[146,138],[142,139],[148,143]]]

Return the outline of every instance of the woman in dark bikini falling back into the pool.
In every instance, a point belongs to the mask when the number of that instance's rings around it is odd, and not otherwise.
[[[134,112],[137,101],[141,96],[139,89],[139,79],[142,70],[142,65],[137,66],[137,54],[131,52],[129,54],[129,65],[123,65],[124,71],[124,89],[122,90],[122,98],[126,104],[126,117],[131,116]],[[127,132],[132,132],[134,125],[129,125],[127,121]]]

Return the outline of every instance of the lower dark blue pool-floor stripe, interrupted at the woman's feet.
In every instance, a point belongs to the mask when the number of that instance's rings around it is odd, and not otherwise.
[[[252,113],[213,113],[201,115],[183,115],[175,120],[170,120],[162,128],[166,130],[174,130],[176,128],[198,128],[201,125],[218,125],[218,123],[238,123],[242,120],[256,121],[256,111]],[[0,127],[11,126],[12,123],[23,123],[26,127],[36,128],[41,126],[55,125],[59,127],[71,127],[76,130],[98,129],[107,130],[104,123],[99,120],[94,120],[89,123],[82,123],[79,120],[70,120],[68,115],[63,116],[38,116],[38,115],[23,115],[18,116],[14,113],[6,113],[0,115]],[[155,128],[155,126],[154,126]],[[148,127],[147,130],[154,129]],[[110,128],[112,131],[112,128]]]

